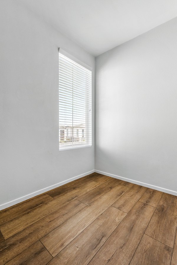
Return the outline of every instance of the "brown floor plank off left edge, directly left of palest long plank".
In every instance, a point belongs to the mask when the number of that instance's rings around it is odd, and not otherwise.
[[[85,207],[80,201],[72,201],[0,243],[0,264],[5,264],[20,254]]]

